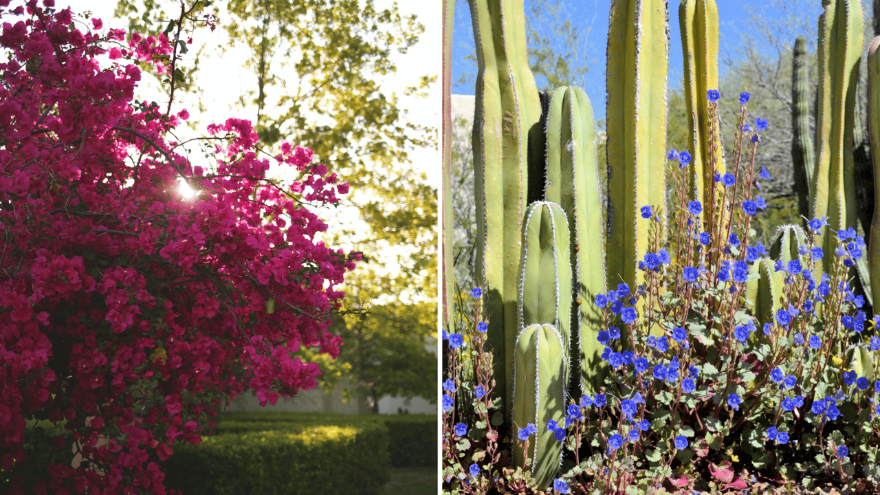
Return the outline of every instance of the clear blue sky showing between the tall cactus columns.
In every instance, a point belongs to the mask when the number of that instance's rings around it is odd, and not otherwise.
[[[554,0],[549,0],[552,4]],[[525,0],[525,12],[530,12],[532,0]],[[608,13],[611,0],[562,0],[569,18],[573,25],[581,26],[582,33],[589,29],[585,39],[585,51],[590,60],[590,71],[586,76],[584,91],[590,97],[593,110],[597,119],[605,118],[605,44],[608,35]],[[670,88],[679,86],[679,79],[684,75],[684,62],[681,52],[681,33],[678,28],[678,4],[675,0],[669,2],[670,18],[670,50],[669,50],[669,85]],[[805,33],[808,39],[815,38],[818,30],[818,15],[821,13],[821,2],[798,2],[788,0],[781,4],[777,2],[743,0],[716,0],[718,5],[718,18],[720,42],[719,42],[719,70],[723,73],[724,65],[721,63],[725,54],[737,59],[736,48],[742,46],[744,30],[749,30],[753,38],[759,38],[760,33],[752,29],[749,22],[749,9],[755,10],[762,18],[778,20],[785,17],[781,9],[796,12],[798,18],[803,19],[812,26],[809,33]],[[563,18],[564,20],[564,18]],[[528,22],[528,21],[527,21]],[[866,27],[869,28],[869,22]],[[538,28],[539,33],[546,32],[546,28]],[[792,43],[794,38],[792,38]],[[473,53],[473,26],[471,25],[471,12],[466,0],[457,0],[455,6],[455,24],[452,33],[452,93],[473,94],[473,85],[476,75],[476,63],[465,60],[465,56]],[[465,84],[455,84],[461,78],[463,72],[473,74]]]

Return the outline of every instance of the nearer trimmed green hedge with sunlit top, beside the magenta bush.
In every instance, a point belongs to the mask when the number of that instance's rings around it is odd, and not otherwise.
[[[225,432],[174,448],[165,487],[183,495],[378,494],[391,479],[385,425]]]

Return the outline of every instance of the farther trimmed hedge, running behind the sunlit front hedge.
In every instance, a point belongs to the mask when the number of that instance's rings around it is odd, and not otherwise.
[[[436,416],[429,414],[350,415],[318,412],[229,412],[217,417],[217,433],[288,430],[304,425],[385,424],[391,465],[395,468],[437,465]]]

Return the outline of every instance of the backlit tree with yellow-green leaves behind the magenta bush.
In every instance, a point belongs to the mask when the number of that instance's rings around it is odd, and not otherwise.
[[[173,12],[173,5],[171,0],[121,0],[116,15],[128,18],[133,29],[158,33],[169,18],[165,11]],[[424,27],[414,15],[403,15],[396,6],[378,9],[372,0],[231,0],[224,6],[203,6],[223,20],[231,46],[250,48],[252,57],[245,67],[253,74],[253,89],[241,95],[238,107],[253,115],[261,150],[274,155],[278,138],[289,136],[308,144],[321,162],[351,183],[352,194],[342,203],[340,217],[357,219],[334,225],[325,239],[344,239],[363,253],[363,265],[350,274],[342,290],[347,292],[347,305],[371,314],[366,321],[347,321],[333,329],[362,324],[393,328],[399,332],[385,335],[386,343],[396,336],[396,345],[406,346],[419,338],[420,359],[432,358],[426,346],[436,343],[433,324],[426,331],[417,325],[383,323],[389,318],[421,321],[420,304],[436,294],[436,188],[413,168],[408,154],[415,147],[436,145],[433,129],[409,122],[398,96],[380,87],[381,78],[397,72],[391,55],[406,53]],[[221,54],[228,48],[216,47]],[[186,72],[190,79],[197,77],[202,51]],[[424,96],[435,80],[435,75],[414,78],[406,93]],[[197,86],[190,85],[190,90],[200,96]],[[343,345],[339,360],[328,363],[323,384],[334,387],[354,369],[349,366],[363,362],[366,357],[357,353],[364,349]],[[436,366],[419,371],[436,382]],[[436,397],[422,385],[399,391],[431,401]]]

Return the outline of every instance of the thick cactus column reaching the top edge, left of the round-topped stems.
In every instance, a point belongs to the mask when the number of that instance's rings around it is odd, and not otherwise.
[[[478,66],[473,118],[476,269],[485,291],[495,379],[502,384],[505,410],[510,411],[528,134],[539,130],[540,103],[525,51],[523,0],[469,4]]]

